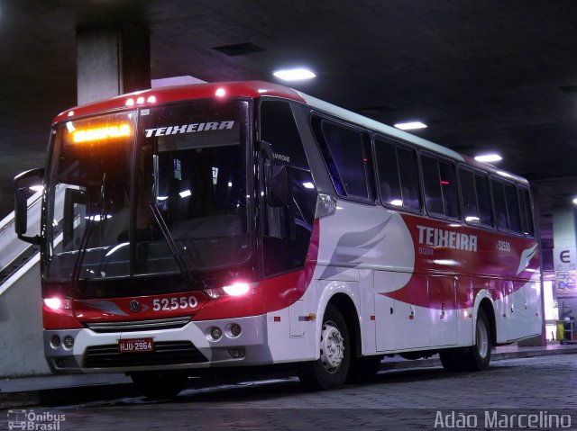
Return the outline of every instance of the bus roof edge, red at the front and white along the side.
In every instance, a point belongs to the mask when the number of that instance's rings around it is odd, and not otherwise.
[[[77,106],[64,112],[60,112],[54,119],[54,123],[72,120],[98,112],[110,112],[124,110],[127,108],[138,108],[143,106],[153,106],[159,103],[171,103],[192,99],[207,99],[218,97],[250,97],[256,99],[261,96],[280,97],[298,103],[305,103],[312,109],[319,112],[328,113],[343,121],[365,127],[367,129],[380,132],[391,138],[400,139],[412,143],[419,148],[426,148],[435,153],[453,158],[457,161],[466,162],[468,165],[476,166],[482,170],[489,171],[495,175],[508,178],[519,183],[528,184],[527,180],[521,176],[510,174],[500,170],[496,166],[478,162],[472,157],[465,157],[451,148],[446,148],[426,139],[419,138],[403,130],[395,129],[379,121],[371,120],[358,113],[348,111],[332,103],[324,102],[316,97],[301,93],[292,88],[271,84],[263,81],[239,81],[239,82],[219,82],[193,85],[177,85],[160,88],[152,88],[129,94],[121,94],[109,99],[87,103]]]

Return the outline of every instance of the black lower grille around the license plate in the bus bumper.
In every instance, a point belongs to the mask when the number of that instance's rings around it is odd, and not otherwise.
[[[153,352],[123,353],[118,345],[91,346],[84,355],[85,368],[195,364],[207,362],[190,341],[159,341]]]

